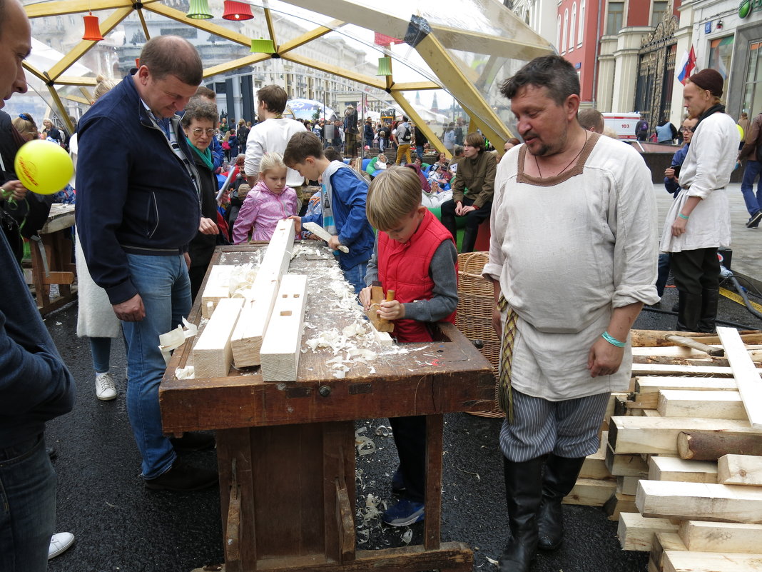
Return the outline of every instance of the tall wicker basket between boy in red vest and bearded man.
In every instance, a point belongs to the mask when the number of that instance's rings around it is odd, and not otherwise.
[[[458,255],[458,313],[455,325],[466,338],[482,341],[484,345],[480,351],[492,364],[497,383],[500,338],[492,327],[495,294],[491,281],[482,278],[482,268],[488,260],[487,252],[463,252]],[[491,411],[471,413],[482,417],[504,416],[497,405]]]

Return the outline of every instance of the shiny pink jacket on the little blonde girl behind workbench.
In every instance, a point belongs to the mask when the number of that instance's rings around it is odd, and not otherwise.
[[[299,204],[296,191],[287,187],[280,194],[274,194],[264,181],[258,181],[251,191],[248,191],[239,216],[233,227],[233,244],[247,242],[248,233],[251,240],[270,240],[278,220],[299,214]]]

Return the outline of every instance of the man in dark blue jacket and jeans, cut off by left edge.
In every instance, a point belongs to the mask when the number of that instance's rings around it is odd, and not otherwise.
[[[0,3],[0,108],[27,91],[31,28],[18,0]],[[45,422],[74,407],[74,379],[0,233],[0,570],[43,572],[56,522],[56,472]]]

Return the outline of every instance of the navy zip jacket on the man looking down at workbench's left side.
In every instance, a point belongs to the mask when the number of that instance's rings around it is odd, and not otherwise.
[[[179,117],[171,117],[171,129],[197,177]],[[78,235],[93,280],[120,304],[138,293],[127,252],[186,252],[198,232],[199,193],[131,76],[93,104],[78,133]]]

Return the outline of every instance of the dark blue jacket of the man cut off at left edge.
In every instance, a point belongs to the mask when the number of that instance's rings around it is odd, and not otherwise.
[[[0,233],[0,447],[32,439],[74,407],[75,383]]]

